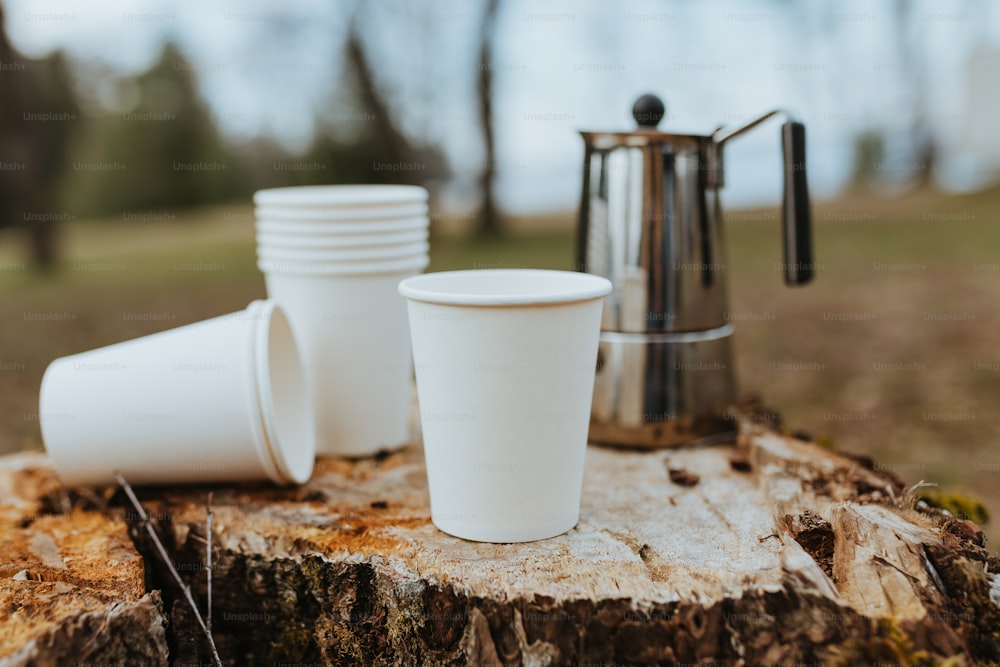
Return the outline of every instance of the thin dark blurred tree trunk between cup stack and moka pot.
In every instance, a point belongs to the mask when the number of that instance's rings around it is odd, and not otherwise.
[[[482,236],[495,236],[501,232],[494,198],[497,158],[493,127],[493,44],[499,6],[500,0],[486,0],[486,10],[483,13],[483,23],[479,33],[479,126],[483,132],[483,147],[486,153],[486,161],[479,176],[483,197],[479,209],[479,233]]]

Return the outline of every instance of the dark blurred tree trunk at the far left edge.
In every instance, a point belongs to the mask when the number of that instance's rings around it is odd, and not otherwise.
[[[42,189],[42,160],[36,128],[26,121],[35,89],[31,67],[14,49],[4,28],[0,5],[0,62],[14,69],[0,77],[0,156],[13,167],[0,180],[0,227],[23,224],[28,232],[34,262],[49,269],[56,259],[55,221],[27,219],[28,213],[42,213],[45,197]],[[47,111],[47,110],[46,110]]]

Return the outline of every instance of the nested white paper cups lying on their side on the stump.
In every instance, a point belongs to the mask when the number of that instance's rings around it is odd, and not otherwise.
[[[273,301],[53,361],[45,448],[66,484],[271,479],[303,483],[315,458],[307,387]]]

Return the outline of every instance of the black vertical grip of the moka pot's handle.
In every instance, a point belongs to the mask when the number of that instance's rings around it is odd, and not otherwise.
[[[781,126],[781,151],[785,158],[785,193],[781,205],[785,240],[785,284],[804,285],[812,280],[816,265],[812,254],[812,213],[806,182],[806,126],[789,121]]]

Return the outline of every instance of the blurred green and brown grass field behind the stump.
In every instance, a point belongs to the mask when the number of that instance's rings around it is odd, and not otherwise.
[[[1000,510],[1000,192],[817,203],[817,277],[795,289],[782,284],[777,211],[727,217],[742,393],[906,481]],[[429,270],[571,268],[572,218],[513,220],[536,231],[490,241],[436,234]],[[20,239],[0,234],[0,453],[41,447],[37,394],[52,359],[264,294],[248,206],[65,231],[54,276],[23,269]]]

